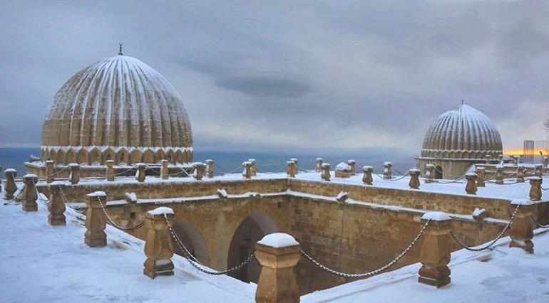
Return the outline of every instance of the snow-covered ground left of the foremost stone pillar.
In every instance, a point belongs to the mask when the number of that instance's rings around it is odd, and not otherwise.
[[[107,225],[108,245],[84,245],[83,221],[51,227],[38,212],[0,199],[0,302],[253,302],[255,286],[198,272],[175,256],[175,275],[143,275],[144,242]]]

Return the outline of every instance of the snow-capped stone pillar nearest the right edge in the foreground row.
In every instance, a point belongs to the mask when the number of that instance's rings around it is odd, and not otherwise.
[[[518,206],[518,211],[513,219],[513,224],[509,230],[511,242],[510,248],[522,248],[527,252],[534,252],[534,231],[532,228],[530,216],[534,211],[534,203],[526,199],[514,199],[509,205],[509,211],[513,213]]]

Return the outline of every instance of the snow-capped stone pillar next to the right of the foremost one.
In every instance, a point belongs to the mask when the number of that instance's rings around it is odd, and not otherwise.
[[[429,225],[424,231],[423,245],[419,253],[419,262],[423,266],[419,269],[418,282],[426,285],[442,287],[450,283],[450,231],[452,219],[446,213],[434,211],[425,213],[421,222]]]

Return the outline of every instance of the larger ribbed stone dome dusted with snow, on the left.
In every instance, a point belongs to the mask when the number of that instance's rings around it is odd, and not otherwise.
[[[53,97],[42,129],[43,158],[64,163],[157,163],[168,156],[190,162],[192,146],[178,92],[149,65],[121,53],[73,75]]]

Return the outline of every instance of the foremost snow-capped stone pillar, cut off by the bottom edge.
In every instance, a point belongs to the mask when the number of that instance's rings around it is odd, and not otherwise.
[[[262,266],[255,290],[255,302],[299,302],[294,267],[301,255],[299,243],[285,233],[272,233],[255,245],[255,257]]]

